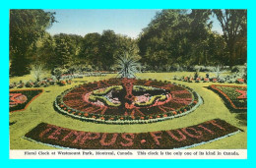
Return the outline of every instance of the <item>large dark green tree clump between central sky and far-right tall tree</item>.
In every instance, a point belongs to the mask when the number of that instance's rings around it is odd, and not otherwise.
[[[223,36],[211,30],[211,14],[211,10],[162,10],[140,34],[142,62],[163,71],[173,64],[228,63]]]

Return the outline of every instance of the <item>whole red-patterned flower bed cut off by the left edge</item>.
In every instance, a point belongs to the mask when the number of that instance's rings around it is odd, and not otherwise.
[[[25,110],[43,89],[16,89],[9,91],[9,112]]]

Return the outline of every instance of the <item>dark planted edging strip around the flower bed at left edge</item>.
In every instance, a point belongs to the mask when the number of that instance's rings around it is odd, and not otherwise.
[[[15,107],[9,107],[9,112],[18,112],[25,110],[34,100],[43,92],[43,89],[12,89],[9,90],[9,93],[22,93],[28,97],[28,100],[22,104],[19,104]]]

